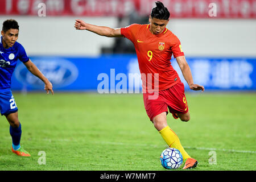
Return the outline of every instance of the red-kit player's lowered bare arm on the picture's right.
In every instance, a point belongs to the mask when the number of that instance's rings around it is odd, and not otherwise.
[[[188,82],[189,88],[191,90],[202,90],[204,92],[204,86],[194,84],[191,70],[189,68],[189,65],[185,59],[185,56],[179,56],[176,57],[177,63],[179,64],[179,67],[181,69],[181,72],[185,78],[185,80]]]

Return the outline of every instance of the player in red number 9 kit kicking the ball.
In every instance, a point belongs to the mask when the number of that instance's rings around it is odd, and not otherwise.
[[[125,28],[109,28],[76,19],[77,30],[88,30],[101,36],[125,37],[133,42],[142,75],[143,100],[147,115],[168,146],[177,148],[185,161],[183,169],[195,168],[197,160],[191,158],[181,146],[177,135],[167,124],[168,109],[175,119],[189,121],[188,103],[184,84],[170,63],[172,55],[192,90],[204,91],[204,86],[193,83],[191,70],[185,60],[180,40],[166,28],[170,13],[162,2],[152,8],[150,24],[131,24]],[[156,96],[156,97],[154,97]]]

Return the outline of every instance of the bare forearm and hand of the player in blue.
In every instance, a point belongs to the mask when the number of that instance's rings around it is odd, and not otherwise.
[[[33,75],[40,78],[44,82],[44,90],[46,90],[46,93],[48,94],[49,91],[51,91],[52,95],[53,89],[52,89],[52,83],[43,75],[43,73],[40,72],[38,67],[34,63],[32,63],[31,60],[28,60],[24,65],[27,67],[28,71],[30,71]]]

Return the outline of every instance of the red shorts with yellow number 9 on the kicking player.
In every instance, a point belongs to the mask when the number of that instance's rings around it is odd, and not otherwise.
[[[153,95],[155,95],[153,97]],[[154,93],[143,93],[144,106],[150,121],[153,118],[166,112],[185,114],[188,112],[188,103],[184,93],[183,82],[178,82],[171,88],[160,90]]]

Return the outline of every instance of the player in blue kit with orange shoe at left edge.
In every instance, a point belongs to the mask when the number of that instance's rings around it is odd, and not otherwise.
[[[19,25],[16,20],[8,19],[3,22],[0,39],[0,111],[5,115],[10,123],[10,134],[13,140],[11,150],[19,156],[30,156],[30,154],[20,147],[22,134],[21,125],[18,119],[18,108],[11,93],[11,76],[16,67],[18,59],[26,65],[27,69],[35,76],[40,78],[45,86],[47,94],[53,94],[52,84],[39,71],[34,63],[29,59],[23,46],[16,42],[19,35]]]

